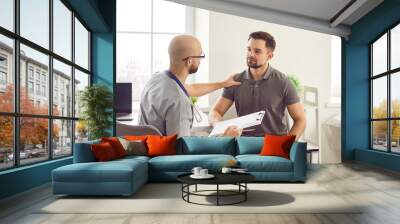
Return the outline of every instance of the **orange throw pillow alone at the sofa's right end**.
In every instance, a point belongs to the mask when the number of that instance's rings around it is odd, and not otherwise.
[[[295,135],[265,135],[264,146],[261,149],[260,155],[280,156],[290,159],[290,148],[295,140]]]

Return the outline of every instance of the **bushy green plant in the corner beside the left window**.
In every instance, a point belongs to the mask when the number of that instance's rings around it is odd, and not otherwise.
[[[81,119],[87,126],[89,140],[110,136],[112,126],[113,94],[102,84],[86,87],[80,92]]]

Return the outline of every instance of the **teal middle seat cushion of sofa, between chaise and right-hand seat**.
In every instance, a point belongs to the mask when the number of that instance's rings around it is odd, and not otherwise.
[[[150,172],[190,172],[193,167],[200,166],[211,172],[219,171],[230,159],[231,155],[174,155],[157,156],[149,160]]]

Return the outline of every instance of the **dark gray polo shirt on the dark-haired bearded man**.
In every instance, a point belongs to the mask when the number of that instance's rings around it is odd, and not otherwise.
[[[261,80],[254,80],[249,70],[237,74],[234,79],[242,84],[225,88],[222,96],[234,101],[237,115],[243,116],[260,110],[266,112],[262,124],[254,127],[254,131],[243,132],[243,135],[286,135],[289,129],[285,109],[300,101],[286,75],[269,65]]]

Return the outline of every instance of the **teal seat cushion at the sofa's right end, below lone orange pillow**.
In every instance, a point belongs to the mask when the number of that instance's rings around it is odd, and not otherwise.
[[[292,161],[278,156],[238,155],[240,167],[249,172],[293,172]]]

